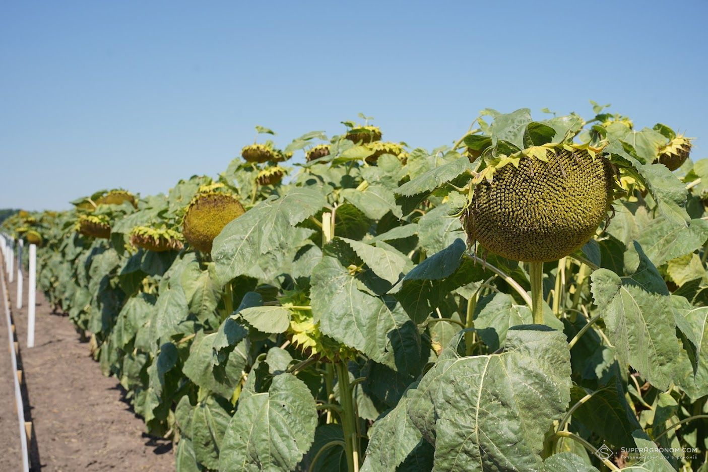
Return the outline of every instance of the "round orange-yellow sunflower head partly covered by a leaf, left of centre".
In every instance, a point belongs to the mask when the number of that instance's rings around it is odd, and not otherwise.
[[[182,220],[184,238],[203,253],[210,253],[214,238],[224,226],[245,212],[236,195],[219,190],[221,188],[195,195]]]

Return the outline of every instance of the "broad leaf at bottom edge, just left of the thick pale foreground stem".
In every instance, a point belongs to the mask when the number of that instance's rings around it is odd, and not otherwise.
[[[314,398],[292,374],[273,377],[268,393],[239,402],[222,442],[219,471],[292,471],[312,444]]]

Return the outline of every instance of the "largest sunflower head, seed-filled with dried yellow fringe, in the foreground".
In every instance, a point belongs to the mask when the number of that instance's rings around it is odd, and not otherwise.
[[[614,173],[603,154],[561,145],[516,156],[481,180],[463,222],[470,243],[524,262],[558,260],[607,217]]]

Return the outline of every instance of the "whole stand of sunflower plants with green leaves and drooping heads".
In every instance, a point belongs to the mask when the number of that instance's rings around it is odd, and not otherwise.
[[[544,113],[257,127],[215,178],[1,228],[177,471],[706,472],[708,160]]]

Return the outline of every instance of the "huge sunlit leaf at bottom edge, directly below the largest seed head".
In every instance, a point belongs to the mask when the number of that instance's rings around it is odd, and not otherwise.
[[[566,336],[517,326],[503,353],[473,357],[457,354],[459,336],[409,396],[435,470],[539,471],[544,434],[570,401]]]

